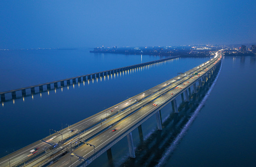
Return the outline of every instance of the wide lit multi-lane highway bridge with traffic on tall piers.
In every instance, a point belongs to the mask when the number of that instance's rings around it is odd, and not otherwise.
[[[125,136],[130,157],[135,158],[131,132],[153,115],[158,130],[162,130],[161,108],[172,102],[178,113],[176,98],[185,94],[188,101],[188,90],[193,87],[197,93],[196,83],[202,85],[211,78],[221,58],[221,52],[217,52],[198,67],[1,158],[0,166],[42,167],[61,157],[49,166],[69,167],[71,163],[72,167],[85,167]]]

